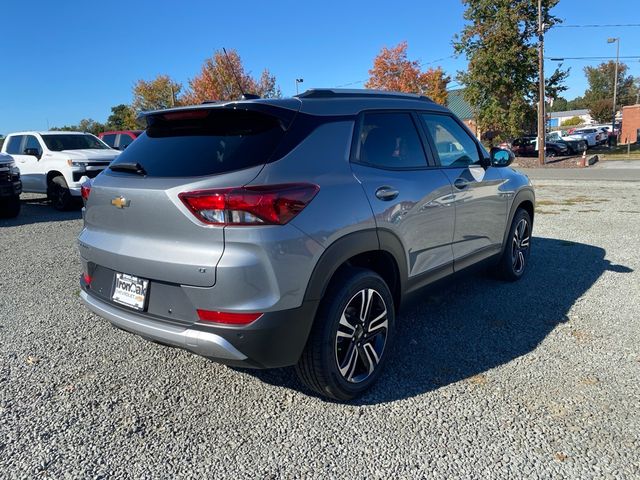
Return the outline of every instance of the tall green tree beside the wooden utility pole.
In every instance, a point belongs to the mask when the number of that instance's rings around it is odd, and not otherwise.
[[[559,0],[543,0],[547,28],[559,23],[550,10]],[[456,52],[468,59],[458,74],[478,126],[496,139],[522,134],[538,100],[537,4],[531,0],[463,0],[467,21],[454,37]],[[546,96],[566,90],[568,70],[556,69],[546,82]]]

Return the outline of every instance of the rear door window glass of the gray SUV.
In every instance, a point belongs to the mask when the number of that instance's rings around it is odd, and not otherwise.
[[[420,136],[409,113],[365,114],[358,147],[358,160],[375,167],[427,166]]]

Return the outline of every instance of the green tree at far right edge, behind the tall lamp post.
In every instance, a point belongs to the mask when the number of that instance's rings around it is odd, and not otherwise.
[[[636,102],[636,85],[632,75],[627,75],[629,67],[625,63],[618,64],[618,97],[617,105],[633,105]],[[584,67],[589,88],[584,92],[586,103],[591,106],[599,100],[613,98],[616,62],[610,60],[597,67]],[[613,111],[613,107],[611,108]]]

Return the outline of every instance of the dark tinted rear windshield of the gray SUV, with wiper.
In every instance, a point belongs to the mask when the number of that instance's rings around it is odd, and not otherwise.
[[[267,163],[282,140],[280,120],[236,109],[168,112],[111,164],[139,164],[151,177],[195,177]]]

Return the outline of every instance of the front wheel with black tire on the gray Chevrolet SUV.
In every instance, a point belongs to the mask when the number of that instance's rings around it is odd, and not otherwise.
[[[507,244],[497,266],[498,276],[503,280],[515,282],[526,273],[531,253],[532,227],[529,213],[519,208],[513,216]]]

